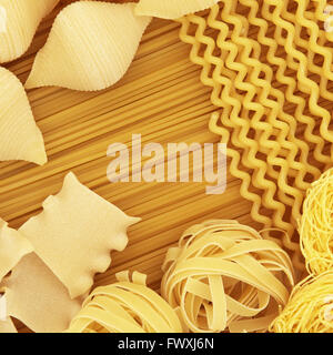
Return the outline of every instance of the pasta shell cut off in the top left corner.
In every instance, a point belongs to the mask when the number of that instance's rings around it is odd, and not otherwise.
[[[59,0],[0,0],[0,63],[21,57]]]

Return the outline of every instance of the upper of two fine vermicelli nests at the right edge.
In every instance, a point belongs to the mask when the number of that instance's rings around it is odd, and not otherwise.
[[[301,250],[310,273],[333,267],[333,169],[307,190],[300,222]]]

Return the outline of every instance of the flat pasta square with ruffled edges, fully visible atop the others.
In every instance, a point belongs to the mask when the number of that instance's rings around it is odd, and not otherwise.
[[[43,202],[43,212],[19,231],[75,298],[90,290],[95,273],[107,271],[110,251],[125,248],[127,229],[139,221],[69,173],[62,190]]]

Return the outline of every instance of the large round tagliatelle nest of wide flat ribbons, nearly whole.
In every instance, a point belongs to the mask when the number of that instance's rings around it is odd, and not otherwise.
[[[264,332],[289,298],[293,266],[273,241],[236,221],[208,221],[170,248],[161,291],[191,332]]]

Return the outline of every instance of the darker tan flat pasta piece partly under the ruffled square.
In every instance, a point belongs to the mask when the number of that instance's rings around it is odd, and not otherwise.
[[[80,311],[81,298],[71,300],[68,290],[34,254],[26,255],[4,282],[8,316],[36,333],[63,332]]]

